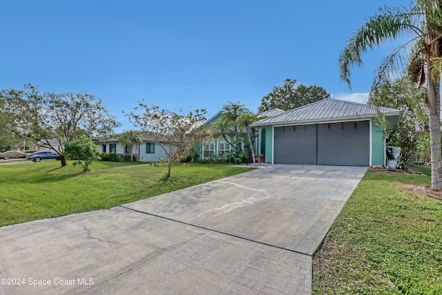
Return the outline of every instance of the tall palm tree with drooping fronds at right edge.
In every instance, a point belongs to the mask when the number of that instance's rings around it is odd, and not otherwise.
[[[419,87],[426,84],[425,103],[430,123],[432,188],[442,189],[441,71],[434,66],[434,61],[442,56],[442,1],[416,0],[416,4],[411,8],[381,9],[378,15],[371,17],[357,30],[340,54],[340,79],[351,87],[350,68],[363,65],[361,54],[385,41],[403,36],[404,33],[413,36],[412,39],[384,59],[374,84],[396,73],[402,68],[404,60],[407,60],[408,76],[414,77],[412,80],[419,82]]]

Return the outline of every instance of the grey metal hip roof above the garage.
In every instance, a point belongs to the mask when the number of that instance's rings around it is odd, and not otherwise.
[[[307,104],[306,106],[294,108],[280,115],[267,117],[266,119],[253,123],[252,126],[367,119],[376,117],[378,112],[383,113],[385,116],[399,115],[399,111],[393,108],[381,108],[369,104],[359,104],[357,102],[346,102],[339,99],[327,98],[319,102]]]

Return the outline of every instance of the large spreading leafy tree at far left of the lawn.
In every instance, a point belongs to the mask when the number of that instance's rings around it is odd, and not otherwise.
[[[24,90],[3,90],[1,95],[14,113],[12,133],[58,153],[61,166],[66,166],[64,142],[82,135],[108,135],[119,126],[102,101],[88,93],[40,93],[27,84]],[[51,144],[53,139],[60,143],[59,149]]]

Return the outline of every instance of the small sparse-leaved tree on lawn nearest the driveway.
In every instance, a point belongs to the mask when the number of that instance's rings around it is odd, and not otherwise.
[[[177,162],[194,138],[204,132],[200,126],[206,120],[206,110],[197,109],[186,114],[181,113],[182,111],[175,113],[158,106],[148,106],[144,102],[139,102],[135,110],[138,108],[143,110],[141,115],[125,115],[135,126],[147,131],[155,144],[162,147],[168,158],[166,178],[169,179],[173,162]]]

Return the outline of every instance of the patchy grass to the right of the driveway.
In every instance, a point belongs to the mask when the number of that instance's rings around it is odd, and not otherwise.
[[[397,185],[430,182],[368,171],[314,257],[313,294],[442,294],[442,202]]]

